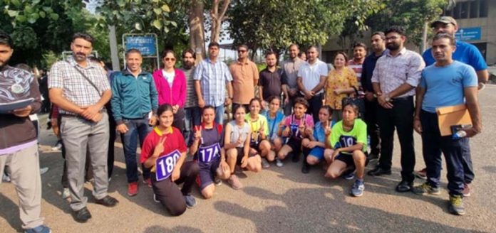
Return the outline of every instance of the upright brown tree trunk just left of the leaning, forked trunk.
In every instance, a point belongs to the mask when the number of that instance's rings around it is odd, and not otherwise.
[[[205,18],[203,9],[205,5],[202,0],[192,0],[188,12],[188,24],[190,25],[190,48],[195,50],[196,63],[205,58]]]

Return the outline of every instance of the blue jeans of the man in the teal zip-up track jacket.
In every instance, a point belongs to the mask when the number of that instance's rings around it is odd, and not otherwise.
[[[125,175],[128,177],[128,183],[138,181],[138,163],[136,162],[136,149],[138,147],[138,137],[140,146],[143,146],[145,137],[152,131],[148,125],[148,118],[142,119],[124,119],[125,126],[128,131],[125,134],[120,134],[120,140],[123,142],[124,158],[125,158]],[[150,168],[143,168],[143,179],[150,178]]]

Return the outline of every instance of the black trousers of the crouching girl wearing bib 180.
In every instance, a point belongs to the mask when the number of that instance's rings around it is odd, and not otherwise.
[[[186,211],[186,201],[184,195],[191,193],[195,180],[200,171],[198,163],[188,161],[181,166],[181,175],[179,180],[172,182],[170,178],[157,181],[155,173],[151,173],[152,187],[155,197],[162,203],[165,210],[172,216],[182,215]],[[177,184],[185,183],[179,190]]]

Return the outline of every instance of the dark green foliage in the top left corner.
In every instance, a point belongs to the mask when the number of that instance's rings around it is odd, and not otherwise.
[[[14,39],[12,64],[49,65],[45,58],[53,60],[68,50],[76,31],[95,36],[95,50],[108,50],[106,31],[96,30],[97,20],[81,0],[6,0],[0,6],[2,30]]]

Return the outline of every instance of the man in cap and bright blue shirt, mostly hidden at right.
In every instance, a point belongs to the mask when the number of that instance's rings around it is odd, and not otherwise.
[[[430,23],[430,26],[433,28],[435,34],[440,33],[448,33],[455,36],[456,31],[458,31],[458,23],[456,23],[455,19],[450,16],[442,16],[437,20]],[[464,41],[456,40],[456,50],[453,53],[453,60],[458,60],[462,63],[472,66],[477,73],[477,82],[479,90],[484,87],[484,83],[489,79],[489,73],[487,72],[487,64],[485,63],[484,58],[480,51],[475,47],[475,45],[471,45],[470,43],[466,43]],[[425,50],[422,55],[423,60],[425,61],[425,65],[433,65],[435,63],[435,59],[432,54],[432,49],[429,48]],[[470,186],[474,179],[474,171],[472,168],[472,158],[470,158],[470,149],[464,151],[463,156],[463,168],[465,170],[465,189],[463,190],[464,196],[470,196]],[[416,172],[419,178],[425,178],[426,170],[425,168]]]

